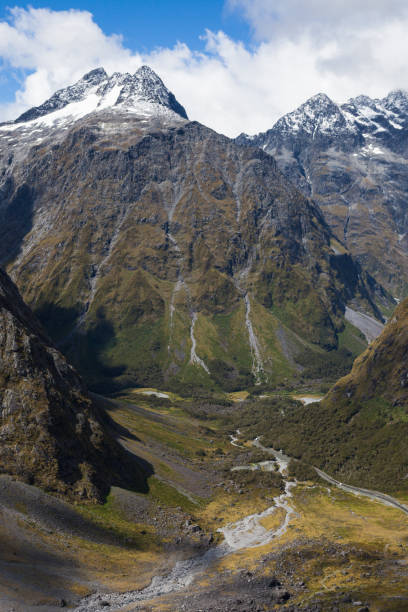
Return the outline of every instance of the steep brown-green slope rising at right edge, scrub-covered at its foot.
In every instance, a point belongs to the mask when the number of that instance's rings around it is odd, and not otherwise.
[[[357,486],[408,493],[408,300],[320,404],[276,415],[271,444]]]

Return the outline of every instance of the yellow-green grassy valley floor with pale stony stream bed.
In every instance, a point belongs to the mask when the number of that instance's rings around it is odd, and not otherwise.
[[[74,506],[0,478],[2,612],[408,610],[406,514],[295,482],[285,465],[282,478],[235,433],[239,401],[165,395],[99,398],[153,467],[147,494],[113,488],[103,506]]]

